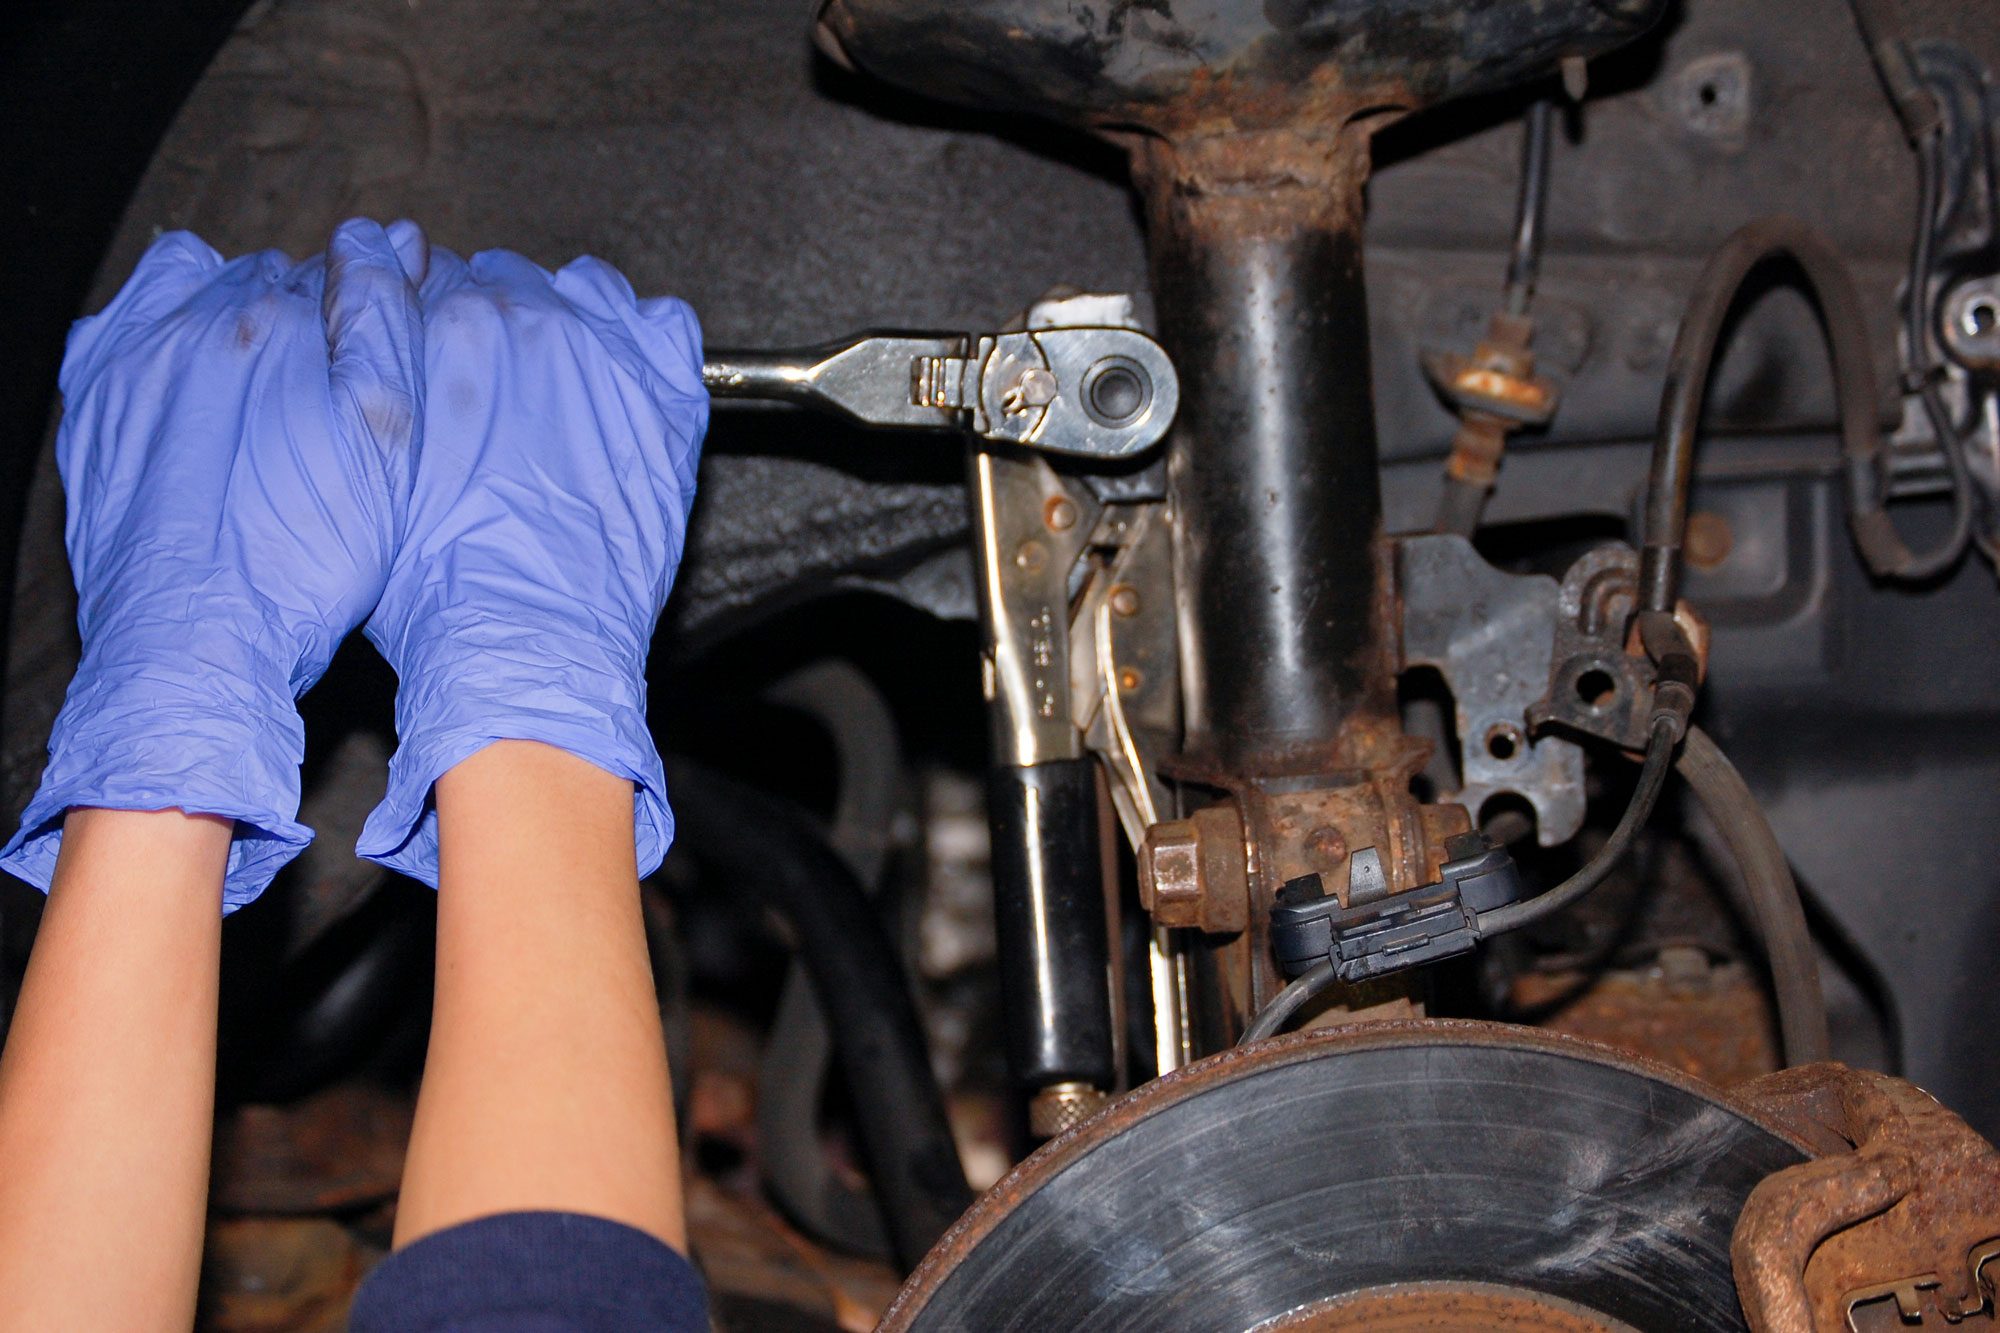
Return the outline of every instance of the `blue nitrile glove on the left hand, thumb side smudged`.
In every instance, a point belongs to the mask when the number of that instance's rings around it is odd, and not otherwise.
[[[48,889],[70,807],[226,815],[236,909],[312,841],[294,699],[396,550],[424,258],[408,222],[346,222],[302,264],[172,232],[70,332],[56,462],[84,654],[0,867]]]

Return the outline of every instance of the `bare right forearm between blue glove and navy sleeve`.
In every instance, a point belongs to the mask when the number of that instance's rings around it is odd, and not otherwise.
[[[496,743],[438,803],[438,993],[396,1243],[494,1213],[686,1245],[632,785]]]

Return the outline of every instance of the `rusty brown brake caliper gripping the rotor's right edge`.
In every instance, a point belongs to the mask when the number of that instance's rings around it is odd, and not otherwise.
[[[1764,1179],[1736,1223],[1754,1333],[1860,1329],[1886,1301],[1890,1327],[2000,1321],[2000,1149],[1922,1089],[1844,1065],[1740,1095],[1826,1153]]]

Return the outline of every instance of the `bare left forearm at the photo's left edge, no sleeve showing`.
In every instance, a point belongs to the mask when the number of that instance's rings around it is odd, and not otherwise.
[[[194,1321],[230,827],[64,821],[0,1057],[0,1329]]]

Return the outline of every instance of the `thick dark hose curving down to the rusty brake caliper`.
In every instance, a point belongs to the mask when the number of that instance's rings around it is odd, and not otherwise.
[[[1772,833],[1770,821],[1744,783],[1736,765],[1700,727],[1688,729],[1686,745],[1674,765],[1686,779],[1702,809],[1716,823],[1716,833],[1728,845],[1742,871],[1770,963],[1770,981],[1778,997],[1778,1029],[1784,1037],[1788,1065],[1810,1065],[1830,1059],[1826,1029],[1826,993],[1820,989],[1820,963],[1806,929],[1806,909],[1792,879],[1792,865]]]

